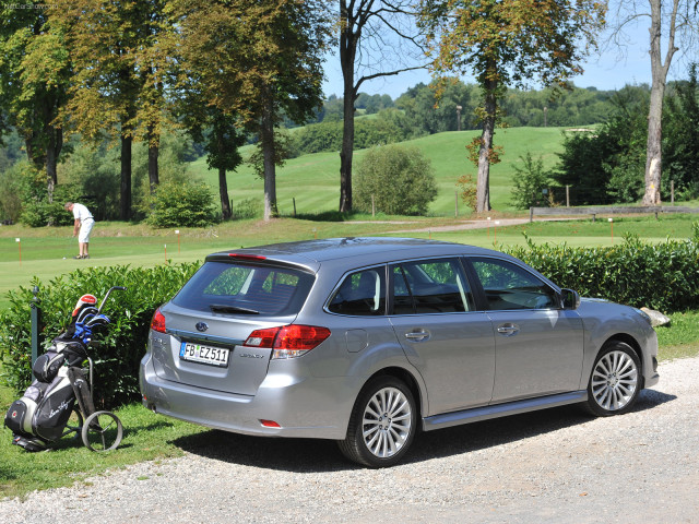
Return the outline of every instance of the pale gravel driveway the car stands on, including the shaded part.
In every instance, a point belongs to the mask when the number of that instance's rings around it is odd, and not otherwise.
[[[699,358],[660,373],[628,415],[562,407],[423,433],[391,469],[332,442],[186,438],[181,458],[0,502],[0,522],[699,523]]]

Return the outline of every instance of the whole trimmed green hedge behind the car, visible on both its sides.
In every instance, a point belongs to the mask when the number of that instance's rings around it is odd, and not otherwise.
[[[566,245],[535,245],[507,251],[529,263],[562,287],[581,296],[600,297],[636,307],[647,306],[663,312],[696,308],[699,303],[699,226],[689,241],[659,245],[627,237],[611,248],[572,248]],[[171,298],[197,271],[199,263],[162,265],[153,269],[114,266],[78,270],[43,284],[44,346],[50,344],[70,322],[78,298],[91,293],[98,300],[111,286],[115,291],[104,312],[111,325],[99,346],[92,352],[95,360],[95,401],[112,407],[139,398],[138,371],[144,354],[151,317],[161,303]],[[9,309],[0,311],[0,357],[3,379],[21,393],[31,382],[32,289],[11,291]]]

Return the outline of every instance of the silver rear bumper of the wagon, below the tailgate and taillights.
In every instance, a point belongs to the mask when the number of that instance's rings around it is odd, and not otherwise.
[[[342,440],[362,384],[346,377],[268,373],[254,396],[191,386],[158,378],[151,354],[141,360],[143,405],[210,428],[264,437]],[[262,426],[273,420],[280,428]]]

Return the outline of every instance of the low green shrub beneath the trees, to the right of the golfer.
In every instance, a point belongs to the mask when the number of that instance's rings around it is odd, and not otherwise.
[[[213,195],[204,182],[162,182],[145,219],[155,227],[204,227],[215,222]]]

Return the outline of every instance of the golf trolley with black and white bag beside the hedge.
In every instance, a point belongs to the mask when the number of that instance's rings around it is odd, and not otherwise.
[[[93,360],[87,354],[97,326],[109,324],[102,313],[111,287],[99,308],[93,295],[78,300],[68,330],[54,338],[49,349],[32,367],[35,380],[4,417],[13,432],[12,443],[27,451],[42,451],[51,442],[72,434],[91,451],[109,451],[121,442],[121,420],[111,412],[96,410],[93,401]],[[87,369],[83,364],[87,361]]]

